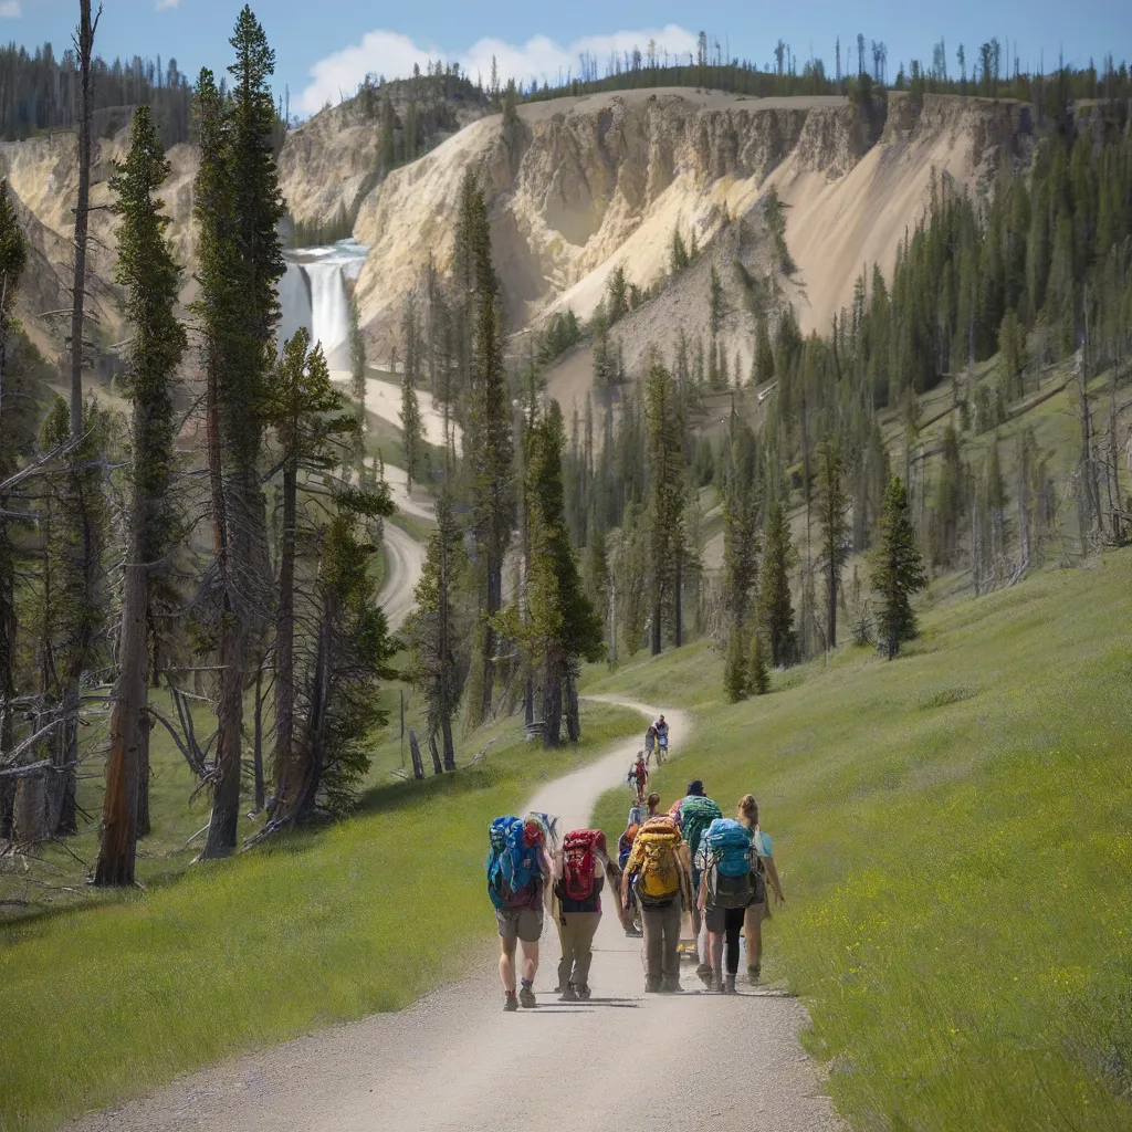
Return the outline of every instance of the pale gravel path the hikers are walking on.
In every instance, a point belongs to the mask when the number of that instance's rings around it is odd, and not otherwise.
[[[677,711],[669,722],[679,760],[692,723]],[[620,744],[548,784],[531,808],[560,815],[566,830],[588,825],[593,804],[623,780],[638,746],[637,738]],[[689,763],[689,778],[701,773]],[[710,787],[710,774],[703,777]],[[626,809],[628,797],[626,791]],[[806,1013],[797,1001],[773,992],[646,997],[641,944],[625,938],[606,903],[590,1002],[559,1003],[551,993],[559,950],[548,923],[535,1010],[503,1012],[492,950],[473,976],[406,1011],[213,1066],[118,1112],[87,1117],[72,1132],[843,1130],[798,1044]],[[491,916],[486,895],[483,915]],[[687,971],[684,986],[694,985]]]

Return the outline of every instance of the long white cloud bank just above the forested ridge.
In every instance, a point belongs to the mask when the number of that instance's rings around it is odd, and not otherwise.
[[[565,78],[567,71],[576,76],[578,60],[583,54],[594,57],[598,74],[604,75],[611,52],[624,55],[634,48],[648,52],[650,41],[654,42],[661,60],[666,52],[670,55],[686,55],[696,49],[696,37],[675,24],[663,28],[615,32],[611,35],[588,35],[566,46],[544,35],[535,35],[521,45],[483,38],[463,51],[444,50],[431,43],[419,45],[408,36],[394,32],[369,32],[362,36],[361,43],[343,48],[311,67],[312,82],[302,92],[300,103],[308,114],[317,113],[327,102],[335,103],[343,96],[352,95],[367,75],[404,77],[412,74],[413,63],[424,70],[429,59],[458,62],[473,80],[478,75],[482,76],[484,84],[491,74],[492,55],[503,82],[514,78],[528,84],[537,78],[540,83],[543,79],[555,83],[559,72]]]

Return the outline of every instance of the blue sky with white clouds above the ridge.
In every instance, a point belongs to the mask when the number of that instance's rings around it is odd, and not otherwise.
[[[237,0],[104,0],[104,8],[95,48],[106,58],[161,55],[163,65],[174,58],[190,77],[203,66],[221,70],[230,61],[228,37],[239,10]],[[388,6],[366,0],[258,0],[252,8],[276,52],[275,88],[281,94],[289,91],[292,114],[302,117],[327,101],[337,102],[341,94],[352,94],[367,72],[392,78],[429,58],[456,60],[473,78],[482,72],[487,82],[494,54],[505,79],[554,79],[559,68],[564,74],[569,67],[576,69],[580,51],[590,50],[600,60],[612,48],[638,44],[643,51],[654,38],[662,50],[686,52],[701,28],[719,37],[724,53],[760,66],[771,61],[781,37],[790,44],[799,70],[813,54],[824,59],[831,74],[837,36],[844,58],[858,32],[867,41],[885,42],[890,76],[901,62],[906,68],[911,59],[931,62],[932,45],[941,36],[950,71],[958,71],[960,43],[970,61],[978,44],[992,36],[1004,45],[1004,63],[1018,55],[1023,69],[1036,69],[1043,51],[1047,69],[1056,65],[1060,50],[1066,62],[1079,66],[1090,58],[1099,66],[1109,51],[1117,61],[1132,57],[1129,0],[953,0],[932,5],[932,11],[908,0],[856,6],[838,0],[805,5],[413,0]],[[0,0],[0,41],[28,48],[50,41],[61,52],[77,16],[75,0]]]

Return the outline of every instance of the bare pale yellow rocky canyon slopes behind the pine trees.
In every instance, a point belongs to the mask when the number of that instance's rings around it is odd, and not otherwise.
[[[441,269],[451,259],[468,170],[490,195],[511,329],[566,306],[588,316],[618,265],[640,286],[657,283],[668,271],[677,230],[707,248],[741,221],[738,258],[757,266],[757,205],[771,185],[790,206],[787,242],[799,269],[787,290],[809,329],[825,326],[849,300],[861,266],[891,267],[933,175],[986,191],[1004,156],[1024,162],[1032,146],[1024,108],[953,96],[929,95],[917,108],[892,94],[885,119],[838,97],[634,91],[522,106],[520,127],[508,137],[500,115],[482,112],[463,108],[454,121],[469,125],[376,186],[377,120],[358,103],[324,111],[288,136],[280,173],[291,214],[324,223],[343,207],[357,211],[354,235],[371,246],[357,294],[377,358],[395,343],[402,298],[429,258]],[[109,201],[110,165],[127,140],[122,131],[98,144],[95,205]],[[25,209],[36,248],[37,282],[26,289],[25,317],[55,303],[59,284],[48,268],[63,281],[69,273],[74,149],[74,135],[62,132],[0,145],[0,175],[9,178]],[[191,265],[196,156],[178,146],[170,161],[170,235]],[[105,209],[92,214],[93,266],[105,281],[112,277],[114,229]],[[712,255],[726,267],[732,254]],[[626,325],[632,359],[678,325],[694,335],[704,324],[706,288],[687,274],[681,290],[654,300],[651,316],[634,316],[637,331]],[[741,295],[730,299],[739,310]],[[100,318],[117,333],[112,295],[100,292],[96,302]],[[728,350],[740,353],[745,366],[749,320],[730,318],[726,334]]]

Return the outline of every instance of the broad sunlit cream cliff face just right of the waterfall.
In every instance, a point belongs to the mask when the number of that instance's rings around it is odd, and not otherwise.
[[[354,235],[372,250],[358,297],[379,354],[429,256],[441,271],[451,263],[466,170],[489,194],[492,250],[517,328],[557,301],[589,315],[619,263],[633,282],[652,284],[676,230],[705,242],[721,206],[749,206],[789,154],[838,177],[864,151],[843,98],[627,92],[523,106],[520,123],[508,138],[498,115],[477,122],[362,204]]]

